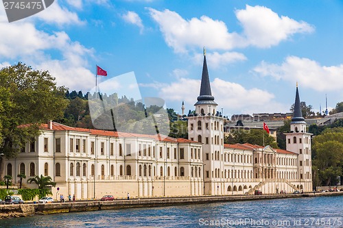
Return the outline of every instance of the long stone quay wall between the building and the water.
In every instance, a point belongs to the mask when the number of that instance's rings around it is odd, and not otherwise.
[[[98,210],[118,210],[134,207],[165,207],[171,205],[204,204],[233,201],[252,201],[265,199],[290,199],[300,197],[340,196],[343,192],[313,192],[303,194],[265,194],[265,195],[235,195],[235,196],[202,196],[202,197],[171,197],[145,198],[115,201],[77,201],[75,203],[26,203],[22,205],[0,205],[0,219],[34,216],[36,214],[57,214],[71,212],[90,212]]]

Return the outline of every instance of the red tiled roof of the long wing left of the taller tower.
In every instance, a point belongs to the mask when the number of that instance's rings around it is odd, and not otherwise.
[[[79,131],[88,133],[91,135],[96,136],[111,136],[111,137],[121,137],[121,138],[152,138],[157,141],[163,142],[192,142],[192,143],[199,143],[192,140],[187,140],[185,138],[171,138],[169,136],[165,136],[163,134],[155,134],[155,135],[147,135],[147,134],[135,134],[135,133],[127,133],[127,132],[119,132],[119,131],[106,131],[106,130],[99,130],[99,129],[87,129],[82,127],[69,127],[67,125],[62,125],[60,123],[53,122],[52,129],[49,129],[48,124],[43,124],[41,129],[47,131]]]

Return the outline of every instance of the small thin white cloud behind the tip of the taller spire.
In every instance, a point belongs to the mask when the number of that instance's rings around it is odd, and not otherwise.
[[[244,54],[238,53],[235,51],[232,51],[232,52],[226,51],[224,53],[218,53],[217,51],[213,51],[211,53],[206,53],[206,56],[209,56],[206,62],[208,62],[209,66],[213,68],[218,68],[222,65],[232,63],[232,62],[247,60]],[[202,63],[203,58],[204,58],[203,55],[200,53],[196,53],[194,55],[195,62]]]

